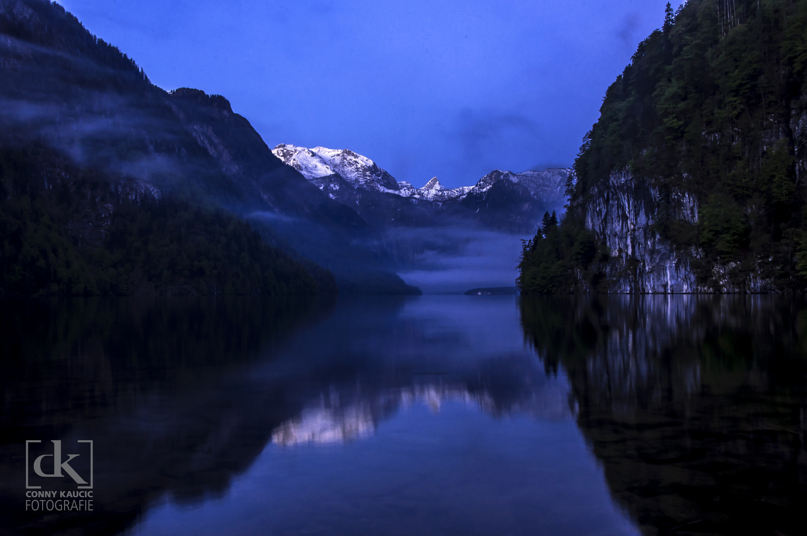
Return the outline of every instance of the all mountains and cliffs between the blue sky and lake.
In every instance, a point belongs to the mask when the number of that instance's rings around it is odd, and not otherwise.
[[[718,4],[667,6],[571,168],[446,188],[270,149],[58,4],[0,0],[0,295],[804,291],[807,2]]]

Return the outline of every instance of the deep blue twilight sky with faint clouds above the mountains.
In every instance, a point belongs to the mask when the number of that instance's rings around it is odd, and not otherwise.
[[[663,0],[63,0],[166,90],[223,94],[270,147],[398,180],[571,165]]]

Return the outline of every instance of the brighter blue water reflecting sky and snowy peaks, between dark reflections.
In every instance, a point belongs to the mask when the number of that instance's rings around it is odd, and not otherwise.
[[[515,296],[480,298],[341,299],[250,367],[301,404],[249,470],[133,534],[638,534]]]

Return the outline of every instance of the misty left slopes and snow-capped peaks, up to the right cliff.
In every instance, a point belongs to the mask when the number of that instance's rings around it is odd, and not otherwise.
[[[0,71],[3,295],[510,285],[519,239],[564,203],[567,169],[416,188],[348,149],[272,150],[226,98],[154,86],[56,3],[0,0]]]

